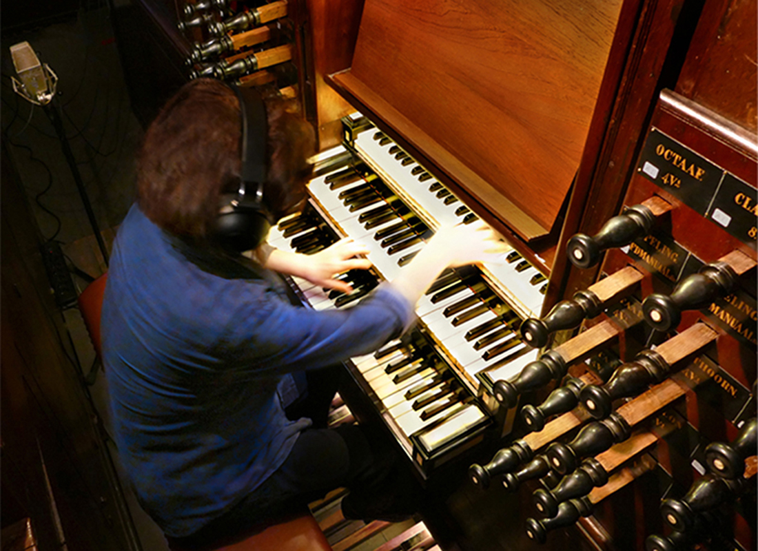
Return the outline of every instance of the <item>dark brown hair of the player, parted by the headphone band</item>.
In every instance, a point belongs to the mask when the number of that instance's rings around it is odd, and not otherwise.
[[[280,218],[305,197],[315,137],[296,104],[269,94],[268,180],[264,201]],[[139,207],[176,236],[205,239],[221,195],[236,193],[240,174],[240,105],[229,86],[198,79],[168,100],[150,124],[137,158]]]

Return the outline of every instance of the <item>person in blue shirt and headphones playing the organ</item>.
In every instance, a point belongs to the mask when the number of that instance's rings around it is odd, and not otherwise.
[[[490,230],[442,228],[354,307],[293,305],[277,272],[349,292],[335,274],[369,263],[349,239],[313,255],[262,243],[305,197],[314,138],[281,100],[256,94],[195,80],[158,114],[108,274],[103,355],[118,452],[143,508],[182,546],[341,486],[347,518],[412,512],[412,485],[404,495],[388,483],[396,467],[365,427],[326,427],[330,366],[402,333],[445,268],[503,255]]]

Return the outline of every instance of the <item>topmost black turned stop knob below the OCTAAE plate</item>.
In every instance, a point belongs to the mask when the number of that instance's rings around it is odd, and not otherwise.
[[[650,208],[634,205],[603,224],[594,236],[577,233],[568,239],[568,260],[577,268],[590,268],[600,262],[600,255],[606,249],[626,246],[637,237],[647,235],[654,220]]]

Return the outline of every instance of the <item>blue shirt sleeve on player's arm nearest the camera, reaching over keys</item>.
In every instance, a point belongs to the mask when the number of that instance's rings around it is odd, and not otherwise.
[[[352,308],[317,311],[269,296],[236,308],[242,322],[227,343],[238,369],[260,375],[334,365],[381,348],[415,319],[412,305],[382,283]]]

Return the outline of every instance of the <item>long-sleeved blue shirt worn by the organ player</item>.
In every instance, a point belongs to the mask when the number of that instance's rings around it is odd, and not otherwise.
[[[193,255],[134,205],[111,256],[102,349],[114,439],[143,508],[172,537],[222,515],[310,424],[284,415],[287,374],[371,352],[411,318],[386,284],[354,308],[294,306],[276,274]]]

